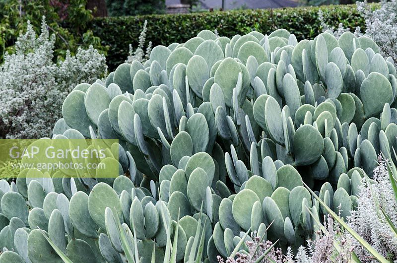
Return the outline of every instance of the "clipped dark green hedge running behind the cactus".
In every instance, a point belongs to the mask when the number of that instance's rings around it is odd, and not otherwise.
[[[129,44],[137,46],[138,36],[145,20],[148,21],[146,40],[152,41],[153,46],[185,42],[203,29],[217,29],[220,36],[230,37],[252,30],[268,33],[277,28],[285,28],[300,40],[312,38],[320,32],[317,18],[319,9],[323,10],[330,25],[337,27],[339,23],[343,23],[350,28],[365,25],[354,4],[106,17],[94,19],[92,30],[94,35],[100,37],[103,45],[110,46],[108,65],[112,70],[127,58]]]

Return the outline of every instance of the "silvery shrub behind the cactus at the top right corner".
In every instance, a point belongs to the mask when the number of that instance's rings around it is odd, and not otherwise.
[[[366,35],[372,38],[381,49],[384,57],[391,57],[397,62],[397,0],[382,0],[380,8],[373,9],[366,1],[357,1],[357,10],[365,19],[366,30],[354,29],[356,36]],[[343,32],[353,29],[345,28],[342,23],[334,28],[325,22],[324,14],[320,10],[318,18],[324,31],[330,30],[338,38]]]

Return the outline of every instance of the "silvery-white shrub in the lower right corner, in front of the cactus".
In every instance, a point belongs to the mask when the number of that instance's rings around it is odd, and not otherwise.
[[[397,226],[397,202],[384,160],[379,160],[373,179],[375,182],[371,184],[371,188],[363,180],[358,209],[350,212],[348,224],[386,259],[397,263],[397,237],[387,223],[383,212],[377,208],[379,205]],[[353,242],[354,252],[362,263],[377,262],[357,241],[353,240]]]

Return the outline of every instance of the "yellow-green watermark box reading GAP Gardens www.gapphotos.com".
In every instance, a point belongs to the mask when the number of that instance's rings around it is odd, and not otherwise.
[[[119,176],[118,139],[0,139],[0,179]]]

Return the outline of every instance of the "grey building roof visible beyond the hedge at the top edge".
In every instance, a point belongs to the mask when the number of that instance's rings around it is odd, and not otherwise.
[[[218,9],[222,7],[222,0],[199,0],[201,3],[201,8]],[[180,0],[166,0],[166,5],[178,4]],[[235,8],[278,8],[287,6],[297,6],[298,2],[293,0],[225,0],[225,9],[235,9]]]

